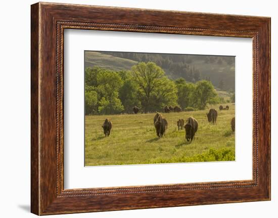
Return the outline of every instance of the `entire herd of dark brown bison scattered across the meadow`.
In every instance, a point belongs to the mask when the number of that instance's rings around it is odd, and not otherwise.
[[[225,108],[222,105],[220,105],[220,107],[219,107],[219,110],[228,110],[228,109],[229,109],[228,105]],[[139,108],[137,106],[134,106],[133,107],[134,114],[137,114],[138,111],[139,111]],[[165,106],[164,112],[165,113],[181,112],[181,108],[179,106],[175,106],[174,108],[172,106]],[[214,108],[211,108],[209,110],[209,112],[207,113],[208,122],[216,124],[217,115],[218,115],[217,111]],[[233,132],[235,132],[235,122],[236,122],[236,119],[235,119],[235,117],[233,117],[230,121],[230,127]],[[156,129],[156,135],[158,137],[165,136],[166,129],[168,128],[168,122],[162,116],[162,114],[159,112],[157,112],[154,116],[154,126]],[[111,132],[111,128],[112,128],[112,122],[109,121],[108,119],[105,119],[102,127],[103,127],[105,136],[106,137],[109,136],[110,132]],[[178,127],[178,130],[184,128],[186,130],[186,140],[188,142],[192,142],[195,139],[195,134],[198,130],[198,121],[193,117],[189,117],[186,120],[186,123],[184,124],[183,119],[178,119],[177,127]]]

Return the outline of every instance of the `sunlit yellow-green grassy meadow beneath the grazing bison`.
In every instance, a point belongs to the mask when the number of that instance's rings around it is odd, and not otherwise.
[[[217,124],[208,123],[206,110],[162,113],[168,121],[166,136],[158,138],[153,124],[154,113],[95,115],[85,117],[85,165],[119,165],[169,162],[202,162],[235,160],[235,134],[230,120],[235,105],[218,111]],[[195,141],[185,140],[185,130],[177,130],[176,121],[193,116],[199,123]],[[103,134],[102,124],[113,123],[110,137]]]

